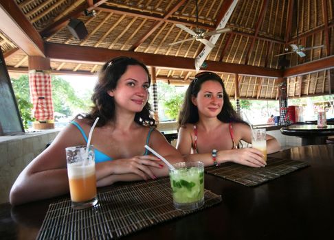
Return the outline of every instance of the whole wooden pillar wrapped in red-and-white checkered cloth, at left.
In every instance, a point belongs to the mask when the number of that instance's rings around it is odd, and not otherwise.
[[[54,105],[49,58],[28,57],[30,97],[33,104],[32,114],[36,121],[34,129],[54,128]]]

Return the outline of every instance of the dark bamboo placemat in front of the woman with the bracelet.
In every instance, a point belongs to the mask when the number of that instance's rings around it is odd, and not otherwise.
[[[307,166],[309,166],[308,163],[298,160],[268,157],[265,167],[247,167],[236,163],[223,163],[219,167],[207,167],[205,172],[245,186],[254,187]]]

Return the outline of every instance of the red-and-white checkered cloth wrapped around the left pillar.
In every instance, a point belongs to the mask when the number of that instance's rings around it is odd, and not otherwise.
[[[30,98],[34,105],[32,114],[37,121],[54,119],[54,104],[52,103],[51,75],[49,71],[29,72]]]

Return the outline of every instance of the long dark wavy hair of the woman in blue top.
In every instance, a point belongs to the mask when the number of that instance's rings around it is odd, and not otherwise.
[[[106,62],[98,75],[98,82],[91,97],[94,105],[91,108],[91,112],[85,116],[85,119],[89,119],[90,123],[100,117],[97,125],[102,127],[108,121],[115,120],[115,99],[107,92],[116,88],[118,80],[120,80],[129,65],[141,66],[148,75],[148,83],[151,84],[151,77],[147,67],[135,58],[118,57]],[[151,112],[151,105],[147,102],[141,112],[136,112],[135,122],[140,125],[156,126]]]

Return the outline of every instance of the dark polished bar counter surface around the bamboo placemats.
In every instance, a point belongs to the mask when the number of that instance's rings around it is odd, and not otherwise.
[[[294,147],[269,156],[310,166],[258,187],[205,174],[205,189],[221,195],[219,204],[122,239],[334,239],[334,145]],[[1,204],[0,239],[35,239],[54,200]]]

